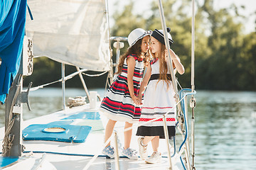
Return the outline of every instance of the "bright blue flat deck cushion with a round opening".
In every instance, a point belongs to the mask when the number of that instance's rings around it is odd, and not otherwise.
[[[47,132],[47,128],[63,128],[63,132]],[[23,140],[47,140],[58,142],[85,142],[92,127],[87,125],[34,124],[23,130]]]

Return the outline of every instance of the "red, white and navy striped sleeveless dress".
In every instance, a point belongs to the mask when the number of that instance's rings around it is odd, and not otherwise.
[[[142,81],[144,62],[138,60],[136,55],[129,55],[128,57],[134,57],[136,61],[132,79],[134,83],[134,94],[137,96]],[[134,123],[139,121],[142,108],[135,105],[129,94],[127,84],[127,58],[124,60],[121,74],[113,82],[107,91],[107,95],[103,98],[100,111],[111,120]]]

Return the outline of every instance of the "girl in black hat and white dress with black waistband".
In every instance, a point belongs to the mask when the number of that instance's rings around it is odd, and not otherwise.
[[[169,32],[170,29],[168,29]],[[168,34],[170,45],[173,43],[171,35]],[[154,60],[146,69],[145,77],[139,89],[139,98],[142,98],[144,93],[144,103],[142,106],[142,115],[139,119],[139,127],[137,136],[139,142],[139,154],[145,162],[153,164],[160,162],[161,153],[158,150],[159,139],[164,138],[164,123],[162,115],[166,115],[166,123],[169,132],[169,138],[175,135],[176,125],[176,102],[174,98],[174,87],[171,84],[170,68],[167,65],[167,51],[164,43],[164,34],[162,30],[154,30],[151,35],[150,45],[151,55]],[[184,73],[184,67],[181,64],[178,56],[170,49],[171,60],[174,67],[174,72],[179,74]],[[147,85],[147,87],[146,87]],[[149,120],[154,120],[148,123]],[[146,147],[151,141],[153,154],[148,158]]]

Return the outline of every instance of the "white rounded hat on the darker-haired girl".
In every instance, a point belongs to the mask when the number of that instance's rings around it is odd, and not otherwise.
[[[139,39],[146,37],[146,35],[151,35],[151,31],[146,31],[142,28],[136,28],[132,30],[128,35],[129,47],[132,47]]]

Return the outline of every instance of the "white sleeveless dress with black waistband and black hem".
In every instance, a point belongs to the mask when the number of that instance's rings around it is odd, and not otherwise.
[[[165,113],[168,113],[166,115],[166,124],[169,139],[175,136],[176,102],[174,88],[171,84],[171,74],[167,75],[170,79],[169,88],[167,88],[166,81],[159,81],[159,60],[153,60],[151,62],[151,77],[144,93],[144,103],[142,106],[142,115],[139,119],[137,136],[159,136],[160,138],[164,138],[164,122],[163,118],[159,117]],[[147,123],[154,118],[159,119]]]

